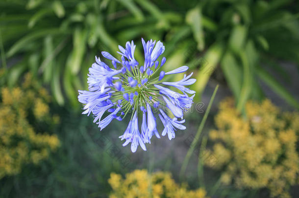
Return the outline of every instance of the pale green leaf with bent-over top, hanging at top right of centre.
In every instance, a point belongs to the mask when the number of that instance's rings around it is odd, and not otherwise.
[[[199,7],[187,12],[186,22],[191,25],[194,38],[198,43],[197,48],[199,51],[202,51],[204,48],[204,36],[202,31],[201,10]]]

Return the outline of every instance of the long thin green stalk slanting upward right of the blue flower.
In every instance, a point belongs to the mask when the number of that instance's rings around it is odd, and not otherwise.
[[[187,165],[188,165],[188,163],[189,163],[190,157],[191,157],[191,155],[193,154],[193,151],[194,151],[194,149],[195,149],[197,143],[199,142],[200,134],[201,134],[201,132],[202,132],[202,129],[203,129],[203,127],[204,127],[204,123],[205,123],[205,121],[206,121],[206,119],[207,119],[207,117],[208,117],[208,114],[209,114],[209,112],[210,112],[210,110],[211,110],[211,106],[212,106],[212,103],[213,103],[213,101],[214,101],[215,95],[216,95],[216,93],[217,93],[218,87],[219,87],[219,85],[217,85],[216,88],[214,89],[214,92],[213,92],[213,95],[212,95],[211,100],[210,100],[210,102],[209,102],[208,108],[207,108],[207,110],[205,111],[205,113],[204,113],[204,115],[203,115],[203,118],[202,118],[202,120],[201,120],[201,122],[200,122],[199,129],[198,129],[198,131],[197,131],[197,133],[196,133],[196,135],[195,135],[195,138],[193,139],[192,144],[191,144],[191,146],[190,146],[190,148],[189,148],[189,150],[188,150],[188,152],[187,152],[187,154],[186,154],[186,156],[185,156],[185,159],[184,159],[184,161],[183,161],[183,164],[182,164],[182,167],[181,167],[181,170],[180,170],[180,173],[179,173],[179,178],[180,178],[180,180],[182,180],[183,175],[184,175],[184,173],[185,173],[185,171],[186,171]]]

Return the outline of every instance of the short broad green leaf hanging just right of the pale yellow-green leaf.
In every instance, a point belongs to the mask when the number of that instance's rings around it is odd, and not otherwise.
[[[233,56],[233,54],[227,51],[221,61],[221,68],[224,72],[225,79],[229,88],[232,90],[235,98],[238,100],[241,92],[242,84],[242,70]]]

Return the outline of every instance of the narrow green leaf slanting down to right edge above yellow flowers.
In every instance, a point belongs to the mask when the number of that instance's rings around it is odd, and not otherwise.
[[[283,98],[287,103],[292,105],[293,107],[299,109],[299,102],[296,100],[292,94],[286,90],[282,85],[278,83],[276,79],[273,78],[269,72],[264,70],[261,67],[257,69],[258,76],[264,81],[270,88],[274,90],[281,98]]]

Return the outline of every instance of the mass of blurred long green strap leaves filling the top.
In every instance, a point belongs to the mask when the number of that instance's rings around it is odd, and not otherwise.
[[[162,40],[164,70],[182,65],[196,74],[200,98],[214,72],[224,74],[239,111],[263,98],[257,79],[290,105],[298,101],[267,69],[285,79],[277,60],[299,63],[298,9],[293,0],[2,0],[2,83],[14,85],[26,70],[42,76],[57,103],[77,106],[88,67],[100,51],[140,38]],[[142,51],[136,58],[142,61]],[[216,69],[219,67],[219,69]],[[213,76],[212,76],[213,77]],[[67,100],[65,98],[67,96]]]

